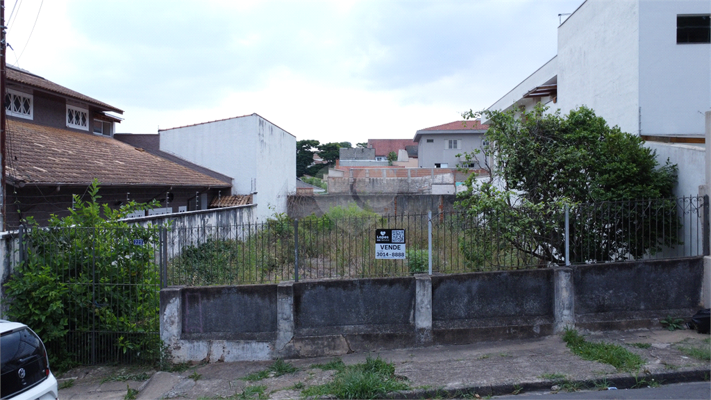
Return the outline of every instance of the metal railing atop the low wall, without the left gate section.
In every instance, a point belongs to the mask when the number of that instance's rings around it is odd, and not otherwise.
[[[248,226],[168,231],[166,282],[239,285],[709,253],[707,197],[580,204],[543,215],[531,212],[326,214],[301,220],[282,216]],[[522,227],[520,221],[530,222]],[[375,231],[382,228],[405,229],[405,259],[375,258]]]

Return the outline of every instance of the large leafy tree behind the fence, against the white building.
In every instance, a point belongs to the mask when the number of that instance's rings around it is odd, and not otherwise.
[[[572,210],[573,262],[636,258],[678,243],[668,228],[676,226],[673,201],[654,207],[629,202],[671,198],[675,164],[659,165],[639,137],[609,127],[587,107],[565,116],[546,110],[464,115],[491,121],[483,154],[490,177],[470,177],[459,198],[469,224],[461,247],[471,263],[562,262],[565,206]],[[586,205],[611,201],[618,202]]]

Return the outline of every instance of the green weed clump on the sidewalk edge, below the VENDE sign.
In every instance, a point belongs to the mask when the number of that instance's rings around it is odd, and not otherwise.
[[[330,363],[329,363],[330,364]],[[374,399],[392,391],[410,389],[402,378],[395,376],[395,366],[380,357],[368,357],[362,364],[336,369],[333,381],[311,386],[302,396],[333,395],[337,399]]]

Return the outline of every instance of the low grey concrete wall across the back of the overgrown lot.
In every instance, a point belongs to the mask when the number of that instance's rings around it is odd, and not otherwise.
[[[304,218],[311,214],[322,216],[336,206],[356,204],[361,209],[380,215],[427,214],[427,211],[454,211],[454,195],[434,194],[322,194],[321,196],[290,196],[289,216]]]

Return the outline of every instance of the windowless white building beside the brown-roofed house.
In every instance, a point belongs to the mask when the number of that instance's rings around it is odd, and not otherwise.
[[[252,194],[260,221],[287,212],[296,193],[296,137],[252,114],[159,130],[160,149],[232,177],[233,194]]]

